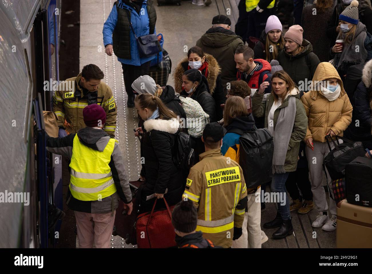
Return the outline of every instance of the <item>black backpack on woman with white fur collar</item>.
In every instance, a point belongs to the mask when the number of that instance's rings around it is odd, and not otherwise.
[[[195,158],[193,140],[190,134],[179,131],[174,144],[173,163],[180,169],[190,169]]]

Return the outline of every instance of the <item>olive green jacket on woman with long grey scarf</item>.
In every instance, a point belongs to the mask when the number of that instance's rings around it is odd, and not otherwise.
[[[296,98],[296,117],[293,125],[291,139],[289,140],[288,144],[288,151],[285,156],[284,169],[286,172],[296,171],[300,142],[306,135],[308,124],[304,105],[299,99],[299,91],[297,89],[293,89],[287,94],[287,96],[283,100],[282,105],[280,105],[274,112],[274,132],[279,112],[282,108],[288,106],[289,96],[294,96]],[[270,109],[274,103],[274,98],[272,94],[269,94],[266,101],[262,101],[262,99],[263,94],[259,94],[257,92],[254,93],[252,97],[252,112],[255,117],[265,116],[265,127],[267,128],[267,115],[269,115]]]

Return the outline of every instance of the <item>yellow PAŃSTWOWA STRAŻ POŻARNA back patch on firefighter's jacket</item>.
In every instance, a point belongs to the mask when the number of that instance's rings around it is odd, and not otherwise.
[[[205,172],[208,187],[224,183],[241,181],[239,166],[231,168],[220,168],[214,171]]]

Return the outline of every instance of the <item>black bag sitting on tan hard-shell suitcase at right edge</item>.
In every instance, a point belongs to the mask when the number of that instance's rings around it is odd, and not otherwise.
[[[372,159],[356,157],[346,165],[345,176],[347,203],[372,207]]]

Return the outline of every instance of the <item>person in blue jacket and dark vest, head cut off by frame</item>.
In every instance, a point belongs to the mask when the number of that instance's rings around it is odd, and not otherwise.
[[[156,55],[140,57],[135,36],[156,34],[155,23],[156,11],[153,0],[120,0],[114,3],[103,25],[106,54],[111,56],[115,53],[118,61],[122,63],[128,108],[134,107],[132,83],[138,77],[148,75],[150,61],[156,57]]]

